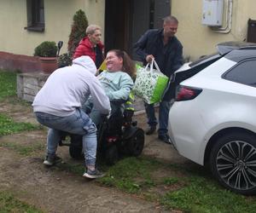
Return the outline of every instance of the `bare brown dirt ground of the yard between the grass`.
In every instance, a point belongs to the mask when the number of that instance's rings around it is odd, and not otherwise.
[[[8,114],[15,121],[37,124],[30,107],[1,103],[0,112]],[[146,127],[145,116],[138,115],[136,119],[139,126],[144,129]],[[45,146],[45,141],[45,130],[0,137],[2,145]],[[41,148],[36,153],[22,155],[11,148],[0,147],[1,191],[11,191],[19,199],[34,204],[45,212],[166,211],[157,203],[121,193],[113,188],[102,187],[96,181],[88,181],[67,171],[45,168],[42,164],[44,152],[44,148]],[[67,147],[59,147],[58,153],[64,161],[73,161],[69,157]],[[164,159],[166,163],[184,164],[187,162],[170,145],[160,142],[156,135],[146,136],[143,154]],[[155,174],[155,176],[158,175]]]

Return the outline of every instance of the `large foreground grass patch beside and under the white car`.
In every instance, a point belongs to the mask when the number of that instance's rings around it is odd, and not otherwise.
[[[81,164],[58,164],[57,170],[81,175]],[[183,168],[141,156],[123,158],[111,167],[102,165],[106,176],[99,185],[115,187],[139,198],[157,202],[168,210],[182,212],[256,212],[256,198],[232,193],[221,187],[201,166]],[[172,174],[172,175],[171,175]]]

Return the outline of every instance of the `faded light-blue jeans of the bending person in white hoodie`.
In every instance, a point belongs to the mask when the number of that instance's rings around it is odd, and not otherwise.
[[[35,112],[40,124],[49,127],[47,135],[47,154],[55,155],[59,141],[60,131],[83,135],[83,151],[86,166],[96,164],[96,125],[89,116],[79,108],[72,115],[59,117],[44,112]]]

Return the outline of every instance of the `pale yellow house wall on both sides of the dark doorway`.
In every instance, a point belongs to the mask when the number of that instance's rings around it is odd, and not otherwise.
[[[228,0],[224,0],[225,2]],[[215,51],[217,43],[247,37],[247,20],[256,20],[255,0],[233,0],[230,33],[216,33],[201,24],[202,0],[172,0],[172,14],[177,16],[177,37],[183,43],[183,52],[190,60]],[[83,9],[90,24],[102,26],[104,37],[105,0],[44,0],[45,32],[28,32],[26,0],[0,2],[0,51],[17,55],[33,55],[34,48],[45,40],[63,41],[61,54],[67,52],[67,41],[73,23],[73,14]]]

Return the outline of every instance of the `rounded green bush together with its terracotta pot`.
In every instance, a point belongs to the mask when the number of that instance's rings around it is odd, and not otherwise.
[[[57,50],[56,43],[49,41],[40,43],[35,48],[34,55],[39,57],[43,72],[51,73],[57,69]]]

